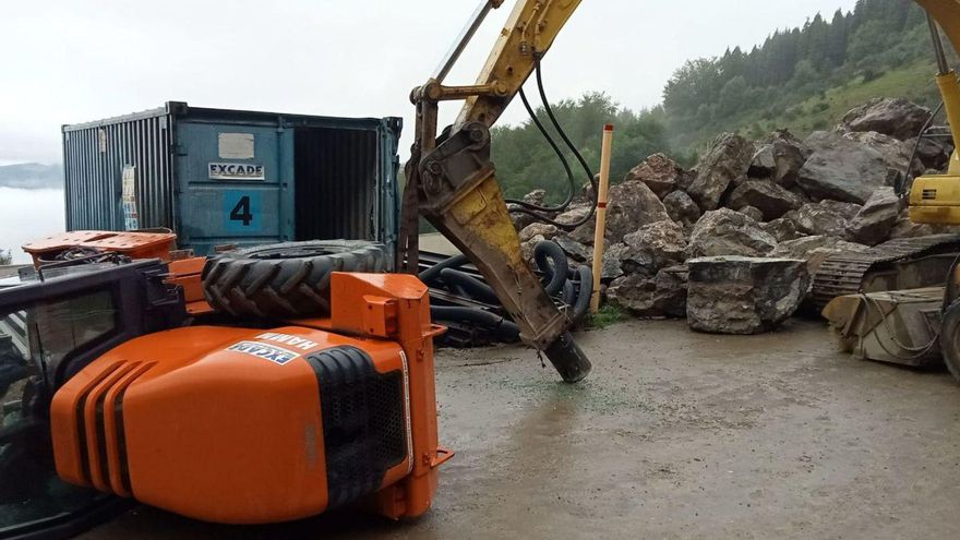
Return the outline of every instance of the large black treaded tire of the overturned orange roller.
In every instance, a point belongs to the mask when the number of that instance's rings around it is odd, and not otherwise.
[[[334,272],[386,269],[383,244],[364,240],[286,242],[228,251],[207,260],[203,292],[217,311],[236,316],[329,314]]]

